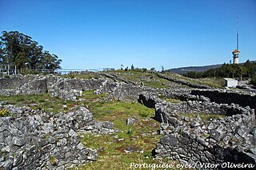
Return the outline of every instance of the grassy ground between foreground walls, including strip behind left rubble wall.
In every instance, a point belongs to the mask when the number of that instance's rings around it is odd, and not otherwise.
[[[28,105],[33,109],[45,109],[54,113],[68,112],[74,105],[84,105],[94,114],[95,120],[114,122],[114,128],[120,129],[118,133],[80,134],[86,148],[98,150],[98,161],[81,165],[78,169],[135,169],[130,168],[133,163],[177,164],[172,160],[153,159],[151,152],[162,137],[158,132],[158,121],[151,118],[154,116],[154,109],[148,109],[138,102],[104,101],[103,97],[106,97],[106,94],[94,95],[94,91],[85,91],[82,95],[85,101],[50,99],[49,94],[0,96],[0,101],[13,105]],[[134,118],[136,124],[127,126],[128,117]],[[126,152],[129,148],[134,148],[136,152]]]

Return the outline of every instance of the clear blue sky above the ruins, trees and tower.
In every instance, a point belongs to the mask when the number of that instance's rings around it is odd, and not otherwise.
[[[0,31],[30,35],[64,69],[165,69],[256,60],[255,0],[0,0]]]

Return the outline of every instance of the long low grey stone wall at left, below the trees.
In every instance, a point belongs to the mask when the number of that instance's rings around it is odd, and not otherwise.
[[[54,75],[10,76],[0,79],[0,95],[50,93],[50,97],[76,100],[83,90],[99,89],[102,79],[64,78]]]

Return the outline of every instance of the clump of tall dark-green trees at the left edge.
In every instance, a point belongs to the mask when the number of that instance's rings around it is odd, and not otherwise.
[[[62,60],[43,49],[30,36],[18,31],[2,32],[0,64],[16,65],[21,69],[61,69]]]

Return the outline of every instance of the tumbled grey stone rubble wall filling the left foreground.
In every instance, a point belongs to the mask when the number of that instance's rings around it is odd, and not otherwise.
[[[45,113],[4,105],[12,117],[0,117],[0,168],[64,169],[95,161],[97,151],[86,148],[78,132],[114,133],[111,122],[94,121],[86,108],[69,113]]]

